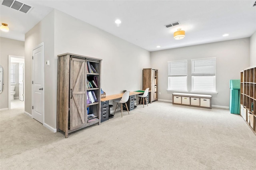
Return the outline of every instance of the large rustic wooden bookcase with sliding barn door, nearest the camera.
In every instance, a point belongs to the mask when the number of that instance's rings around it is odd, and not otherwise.
[[[100,71],[102,59],[64,53],[58,55],[57,82],[57,130],[68,137],[74,132],[90,125],[100,125]],[[97,73],[88,72],[88,62]],[[88,87],[87,80],[98,80],[98,87]],[[87,104],[87,94],[91,91],[97,101]],[[87,113],[87,109],[89,113]],[[94,121],[88,121],[88,114],[94,114]]]

